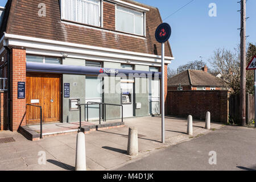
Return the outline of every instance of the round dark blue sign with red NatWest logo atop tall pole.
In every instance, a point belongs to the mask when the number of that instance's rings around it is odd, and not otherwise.
[[[155,31],[155,39],[159,43],[166,42],[171,36],[172,30],[168,23],[161,23]]]

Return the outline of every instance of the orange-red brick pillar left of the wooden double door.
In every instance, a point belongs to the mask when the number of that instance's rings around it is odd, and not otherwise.
[[[26,125],[26,99],[18,99],[18,81],[26,82],[26,49],[11,49],[11,131]]]

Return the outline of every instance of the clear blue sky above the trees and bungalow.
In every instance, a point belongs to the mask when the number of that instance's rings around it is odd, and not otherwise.
[[[232,50],[240,44],[240,30],[237,30],[240,28],[240,12],[237,12],[240,10],[240,3],[237,3],[239,0],[137,1],[158,7],[163,22],[171,25],[172,35],[169,41],[175,57],[169,65],[172,69],[177,69],[180,65],[194,60],[203,60],[208,63],[215,49]],[[5,6],[6,2],[6,0],[0,0],[0,6]],[[217,16],[209,16],[210,3],[216,4]],[[184,5],[187,6],[183,7]],[[181,7],[183,8],[180,9]],[[246,42],[254,44],[256,43],[255,8],[256,1],[248,0],[246,17],[250,18],[246,21],[246,35],[249,35]],[[168,16],[170,17],[167,18]]]

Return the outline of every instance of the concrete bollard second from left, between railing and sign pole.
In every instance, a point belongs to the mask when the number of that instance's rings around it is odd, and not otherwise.
[[[127,154],[135,156],[138,152],[138,130],[135,127],[129,127]]]

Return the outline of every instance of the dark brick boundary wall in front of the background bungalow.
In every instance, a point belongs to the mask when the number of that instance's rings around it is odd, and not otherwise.
[[[168,91],[167,114],[205,119],[210,111],[211,121],[228,122],[229,92],[226,90],[185,90]]]

